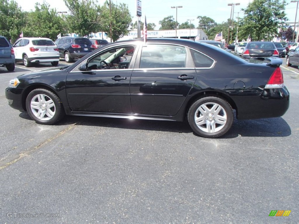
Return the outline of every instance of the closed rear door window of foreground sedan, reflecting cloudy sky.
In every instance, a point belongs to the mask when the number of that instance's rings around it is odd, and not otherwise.
[[[185,47],[149,44],[142,48],[140,68],[186,67]]]

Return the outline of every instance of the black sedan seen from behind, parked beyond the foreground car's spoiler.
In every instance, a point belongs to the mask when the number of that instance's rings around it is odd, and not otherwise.
[[[242,57],[254,59],[258,57],[278,57],[279,53],[273,42],[253,41],[249,42],[243,50]]]

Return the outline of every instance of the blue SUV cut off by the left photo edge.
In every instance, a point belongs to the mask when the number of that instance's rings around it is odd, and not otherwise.
[[[8,71],[15,70],[15,53],[10,42],[4,36],[0,36],[0,66]]]

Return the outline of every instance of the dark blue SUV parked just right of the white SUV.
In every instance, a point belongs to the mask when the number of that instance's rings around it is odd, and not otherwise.
[[[85,37],[63,36],[55,40],[60,58],[66,62],[79,59],[95,49],[95,45]]]

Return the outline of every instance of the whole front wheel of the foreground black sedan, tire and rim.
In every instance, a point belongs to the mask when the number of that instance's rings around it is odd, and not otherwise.
[[[59,97],[46,89],[32,90],[26,99],[29,116],[38,124],[52,125],[65,115]]]

